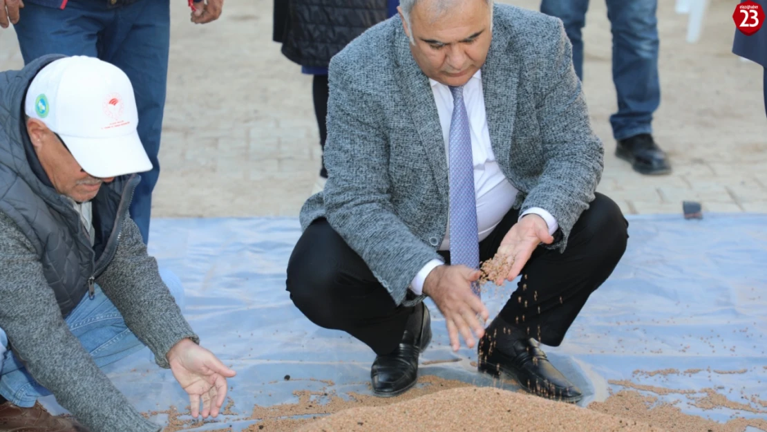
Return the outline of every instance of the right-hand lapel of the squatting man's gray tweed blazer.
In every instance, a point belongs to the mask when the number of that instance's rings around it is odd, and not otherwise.
[[[482,93],[485,97],[487,126],[495,160],[508,177],[512,154],[512,130],[517,106],[519,68],[509,61],[504,32],[493,32],[490,50],[482,65]]]

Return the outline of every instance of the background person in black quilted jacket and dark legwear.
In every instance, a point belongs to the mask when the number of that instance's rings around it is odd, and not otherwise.
[[[324,152],[328,130],[328,64],[349,42],[386,18],[397,15],[399,0],[370,0],[360,6],[351,0],[331,0],[315,5],[308,0],[275,0],[272,40],[282,44],[281,52],[301,65],[301,73],[313,75],[314,115]],[[312,193],[328,180],[324,157]]]

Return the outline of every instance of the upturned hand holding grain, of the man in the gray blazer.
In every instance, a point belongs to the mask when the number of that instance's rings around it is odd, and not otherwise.
[[[509,229],[498,248],[499,255],[507,256],[511,263],[511,270],[506,275],[506,280],[511,282],[522,272],[539,244],[550,245],[552,242],[554,237],[548,233],[548,225],[541,216],[534,213],[523,216],[512,226],[512,229]],[[503,284],[502,279],[493,282],[496,285]]]

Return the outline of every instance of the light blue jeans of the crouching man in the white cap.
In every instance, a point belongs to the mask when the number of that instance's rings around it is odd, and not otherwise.
[[[164,269],[160,269],[160,276],[183,311],[181,281],[173,272]],[[101,288],[98,285],[95,288],[94,298],[91,300],[86,294],[64,321],[83,348],[91,353],[96,365],[103,368],[140,351],[144,345],[127,328],[122,315]],[[51,392],[32,378],[13,352],[6,350],[7,346],[8,338],[0,328],[0,395],[17,407],[31,407],[38,398]]]

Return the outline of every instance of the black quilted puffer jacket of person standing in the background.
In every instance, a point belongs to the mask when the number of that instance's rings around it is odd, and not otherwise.
[[[301,66],[327,68],[354,38],[387,18],[387,0],[275,0],[272,39]]]

